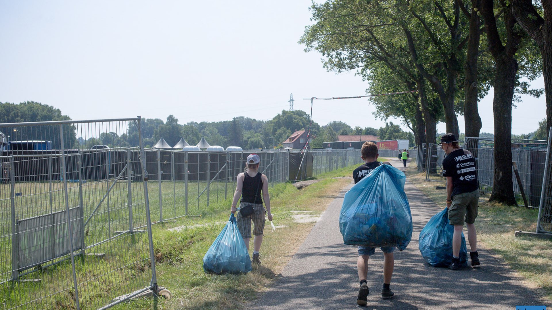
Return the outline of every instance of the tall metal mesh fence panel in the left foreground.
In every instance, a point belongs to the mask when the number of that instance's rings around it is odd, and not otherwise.
[[[140,125],[0,124],[23,141],[0,156],[3,309],[97,309],[157,290]]]

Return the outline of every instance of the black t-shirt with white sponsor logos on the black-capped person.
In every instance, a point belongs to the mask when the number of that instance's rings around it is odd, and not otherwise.
[[[452,178],[451,196],[469,193],[479,188],[475,158],[465,149],[450,152],[443,159],[443,177]]]

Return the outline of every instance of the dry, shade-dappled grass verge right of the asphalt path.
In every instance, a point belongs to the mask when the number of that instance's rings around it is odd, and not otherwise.
[[[445,207],[446,191],[437,190],[437,182],[425,181],[425,173],[415,167],[406,171],[407,180],[421,189],[436,204]],[[527,285],[538,288],[546,301],[552,301],[552,240],[515,237],[515,231],[535,231],[538,210],[489,203],[488,195],[481,197],[479,215],[475,222],[477,242],[501,256],[518,271]],[[485,264],[485,258],[481,258]]]

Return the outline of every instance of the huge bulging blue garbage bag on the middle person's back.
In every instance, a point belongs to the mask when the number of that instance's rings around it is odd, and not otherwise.
[[[405,174],[380,165],[345,194],[339,230],[343,243],[406,249],[412,215],[405,194]]]

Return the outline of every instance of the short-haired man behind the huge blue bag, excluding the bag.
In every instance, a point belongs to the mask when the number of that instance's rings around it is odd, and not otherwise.
[[[354,184],[357,184],[358,181],[366,177],[372,170],[378,167],[381,162],[378,162],[378,146],[374,142],[364,142],[362,148],[360,149],[362,154],[362,159],[364,164],[360,165],[357,169],[353,171]],[[384,162],[384,164],[391,165],[389,162]],[[384,256],[383,263],[383,288],[381,289],[381,299],[390,299],[394,296],[394,293],[389,289],[391,284],[391,276],[393,275],[393,268],[395,266],[395,256],[393,251],[395,247],[381,247],[381,251]],[[374,255],[375,248],[373,247],[364,247],[359,245],[358,247],[358,259],[357,259],[357,270],[358,270],[358,280],[360,281],[360,289],[358,291],[357,303],[360,305],[368,304],[367,296],[370,293],[368,288],[368,283],[366,281],[368,273],[368,258],[370,255]]]

